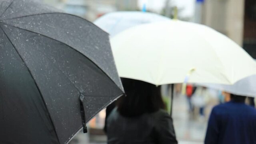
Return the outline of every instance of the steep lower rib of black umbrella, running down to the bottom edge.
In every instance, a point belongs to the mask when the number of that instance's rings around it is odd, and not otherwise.
[[[10,38],[8,37],[8,35],[6,34],[6,32],[4,31],[4,29],[3,29],[1,26],[0,26],[0,28],[1,28],[2,31],[4,32],[4,35],[8,38],[8,40],[9,40],[10,43],[12,44],[14,50],[17,52],[17,54],[18,54],[19,57],[21,58],[22,62],[24,63],[24,65],[25,65],[26,68],[28,69],[28,72],[29,72],[30,76],[31,76],[32,79],[34,80],[34,84],[36,85],[36,88],[38,89],[38,92],[39,92],[39,94],[40,94],[40,96],[41,96],[41,98],[42,98],[42,100],[43,100],[43,102],[44,102],[44,106],[45,106],[45,108],[46,108],[46,110],[47,110],[47,112],[48,112],[48,116],[49,116],[49,118],[50,118],[50,121],[51,121],[51,123],[52,123],[52,126],[54,127],[54,132],[55,132],[55,134],[56,134],[56,137],[57,137],[57,139],[58,139],[58,142],[60,143],[60,140],[59,140],[59,138],[58,138],[58,134],[57,134],[57,132],[56,132],[56,130],[55,130],[55,126],[54,126],[53,120],[52,120],[52,118],[51,118],[51,116],[50,116],[50,112],[49,112],[49,110],[48,110],[48,108],[47,108],[47,106],[46,106],[46,102],[45,102],[45,100],[44,100],[44,98],[43,98],[42,92],[41,92],[40,88],[38,87],[38,84],[36,83],[36,80],[35,80],[34,76],[32,75],[32,72],[29,70],[28,66],[26,65],[26,62],[24,61],[24,59],[22,58],[22,56],[20,55],[20,53],[18,52],[18,50],[16,49],[16,47],[14,46],[14,44],[12,43],[12,41],[10,40]]]

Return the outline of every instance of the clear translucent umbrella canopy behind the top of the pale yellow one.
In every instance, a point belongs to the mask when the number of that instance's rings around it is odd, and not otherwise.
[[[139,24],[146,24],[151,22],[160,22],[170,20],[165,16],[154,14],[151,12],[110,12],[98,18],[94,24],[105,30],[110,36],[115,36],[119,32],[137,26]]]

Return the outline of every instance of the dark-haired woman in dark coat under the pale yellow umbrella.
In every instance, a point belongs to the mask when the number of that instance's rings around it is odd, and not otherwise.
[[[107,119],[108,144],[177,144],[160,86],[122,78],[126,96]]]

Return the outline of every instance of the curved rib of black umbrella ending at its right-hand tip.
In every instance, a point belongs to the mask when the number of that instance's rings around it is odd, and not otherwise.
[[[6,24],[5,22],[2,22],[2,23]],[[37,32],[33,32],[33,31],[31,31],[31,30],[27,30],[27,29],[24,29],[24,28],[20,28],[20,27],[18,27],[18,26],[13,26],[13,25],[10,25],[10,24],[6,24],[6,25],[9,25],[9,26],[12,26],[12,27],[21,29],[21,30],[26,30],[26,31],[32,32],[32,33],[34,33],[34,34],[40,34],[40,33],[37,33]],[[52,39],[52,40],[55,40],[54,38],[51,38],[51,37],[46,36],[46,35],[44,35],[44,34],[40,34],[40,35],[41,35],[41,36],[45,36],[46,38],[50,38],[50,39]],[[64,44],[64,45],[68,46],[69,48],[75,50],[76,52],[78,52],[78,53],[82,54],[83,56],[85,56],[86,58],[88,58],[88,57],[87,57],[86,55],[84,55],[82,52],[80,52],[80,51],[78,51],[78,50],[72,48],[72,46],[69,46],[68,44],[66,44],[66,43],[64,43],[64,42],[61,42],[61,41],[59,41],[59,40],[55,40],[55,41],[60,42],[60,43],[62,43],[62,44]],[[106,76],[108,76],[108,74],[107,74],[106,72],[104,72],[94,61],[92,61],[90,58],[88,58],[88,60],[89,60],[90,62],[92,62],[96,67],[98,67]],[[114,82],[114,80],[112,80],[112,78],[110,78],[110,76],[108,76],[108,78],[119,88],[119,86]],[[123,91],[121,88],[119,88],[119,89],[120,89],[121,91]]]

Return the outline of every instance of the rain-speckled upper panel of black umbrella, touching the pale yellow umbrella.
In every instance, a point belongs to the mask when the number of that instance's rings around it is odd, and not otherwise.
[[[64,13],[25,16],[2,22],[75,47],[96,63],[122,89],[108,34],[91,22]]]

